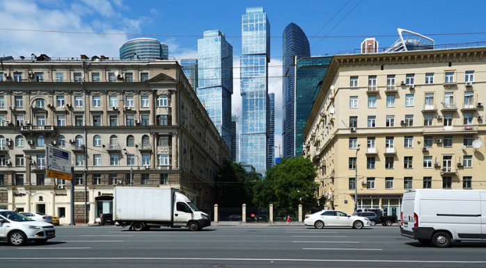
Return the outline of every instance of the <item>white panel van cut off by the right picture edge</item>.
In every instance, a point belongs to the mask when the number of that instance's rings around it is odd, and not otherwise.
[[[486,240],[486,190],[407,190],[400,231],[437,247]]]

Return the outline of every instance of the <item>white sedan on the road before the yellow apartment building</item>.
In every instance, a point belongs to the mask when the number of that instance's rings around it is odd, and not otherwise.
[[[369,219],[365,217],[352,216],[339,210],[322,210],[311,215],[306,215],[304,224],[322,229],[330,226],[347,226],[355,229],[371,226]]]

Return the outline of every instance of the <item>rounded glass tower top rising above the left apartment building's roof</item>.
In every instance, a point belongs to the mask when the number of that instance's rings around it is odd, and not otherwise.
[[[153,38],[135,38],[120,47],[121,60],[168,59],[168,46]]]

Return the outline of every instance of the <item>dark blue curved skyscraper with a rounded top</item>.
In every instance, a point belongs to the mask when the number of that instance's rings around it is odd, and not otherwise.
[[[295,156],[295,65],[296,58],[311,56],[311,47],[302,29],[293,22],[283,30],[283,157]]]

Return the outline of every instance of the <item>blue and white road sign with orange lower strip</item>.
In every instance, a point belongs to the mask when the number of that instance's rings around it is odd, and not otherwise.
[[[47,176],[71,181],[71,153],[54,146],[45,146]]]

